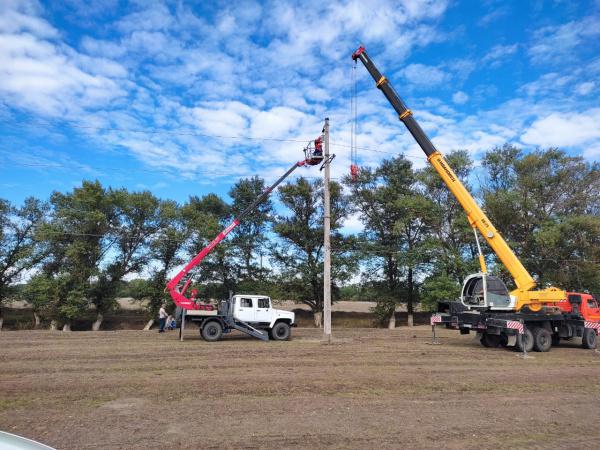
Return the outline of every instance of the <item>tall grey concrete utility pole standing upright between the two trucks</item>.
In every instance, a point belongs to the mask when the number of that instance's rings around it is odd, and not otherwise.
[[[325,260],[323,262],[323,339],[331,343],[331,205],[329,199],[329,118],[325,119],[323,127],[324,142],[324,184],[323,184],[323,247],[325,248]]]

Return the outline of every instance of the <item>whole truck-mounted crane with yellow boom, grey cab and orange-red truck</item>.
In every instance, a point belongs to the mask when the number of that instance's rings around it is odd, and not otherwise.
[[[514,345],[512,337],[516,332],[511,326],[512,323],[520,323],[525,324],[526,329],[525,339],[520,340],[524,342],[522,345],[527,346],[531,342],[538,351],[548,351],[553,341],[573,336],[582,337],[584,346],[595,348],[600,315],[593,307],[573,310],[571,306],[576,298],[585,299],[591,302],[590,305],[595,300],[588,294],[567,295],[567,292],[555,287],[533,290],[536,285],[533,277],[435,148],[388,79],[375,67],[365,48],[359,47],[352,54],[352,59],[355,62],[360,60],[373,77],[377,88],[383,92],[398,118],[425,152],[429,163],[464,209],[475,232],[481,272],[465,279],[461,303],[446,303],[446,311],[442,304],[441,312],[447,313],[442,316],[442,323],[460,328],[464,333],[477,330],[482,334],[482,344],[486,346],[494,346],[494,343]],[[509,292],[500,278],[487,273],[477,230],[512,275],[516,285],[513,291]]]

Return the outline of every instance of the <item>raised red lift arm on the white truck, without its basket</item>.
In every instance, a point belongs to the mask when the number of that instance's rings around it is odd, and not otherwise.
[[[202,260],[204,258],[206,258],[206,256],[217,245],[219,245],[219,243],[223,239],[225,239],[225,237],[227,237],[227,235],[229,233],[231,233],[231,231],[233,231],[233,229],[235,229],[235,227],[237,227],[240,224],[240,222],[244,219],[244,217],[246,217],[248,214],[250,214],[252,211],[254,211],[258,207],[258,205],[260,205],[262,202],[264,202],[267,199],[267,197],[269,197],[271,192],[273,192],[273,190],[277,186],[279,186],[279,184],[281,184],[281,182],[283,182],[283,180],[285,180],[287,177],[289,177],[292,174],[292,172],[294,170],[296,170],[298,167],[302,167],[306,164],[307,164],[306,160],[298,161],[297,163],[294,163],[294,165],[292,167],[290,167],[287,170],[287,172],[285,172],[281,177],[279,177],[277,179],[277,181],[275,181],[275,183],[273,183],[271,186],[269,186],[267,189],[265,189],[265,191],[262,194],[260,194],[254,200],[254,202],[252,202],[252,204],[248,205],[246,207],[246,209],[244,209],[236,218],[234,218],[233,221],[229,225],[227,225],[227,227],[225,227],[225,229],[223,231],[221,231],[206,247],[204,247],[200,251],[200,253],[198,253],[196,256],[194,256],[192,258],[192,260],[189,263],[187,263],[185,265],[185,267],[177,275],[175,275],[171,279],[171,281],[169,281],[169,283],[167,283],[167,289],[169,290],[169,294],[171,295],[173,302],[175,302],[175,304],[177,306],[180,306],[181,308],[187,309],[187,310],[200,309],[193,298],[186,297],[186,291],[188,290],[188,288],[190,287],[190,284],[192,282],[192,277],[190,276],[191,270],[194,267],[196,267],[198,264],[200,264],[202,262]]]

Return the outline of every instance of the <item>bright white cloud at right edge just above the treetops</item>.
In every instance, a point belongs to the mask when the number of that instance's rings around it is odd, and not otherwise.
[[[581,113],[553,113],[531,124],[521,136],[525,144],[573,146],[600,139],[600,108]]]

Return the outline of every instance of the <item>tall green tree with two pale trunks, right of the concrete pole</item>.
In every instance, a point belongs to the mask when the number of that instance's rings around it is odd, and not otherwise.
[[[375,313],[394,328],[396,306],[406,302],[412,325],[417,279],[428,261],[431,201],[420,192],[411,163],[403,156],[363,170],[349,187],[365,226],[363,280],[377,294]]]

